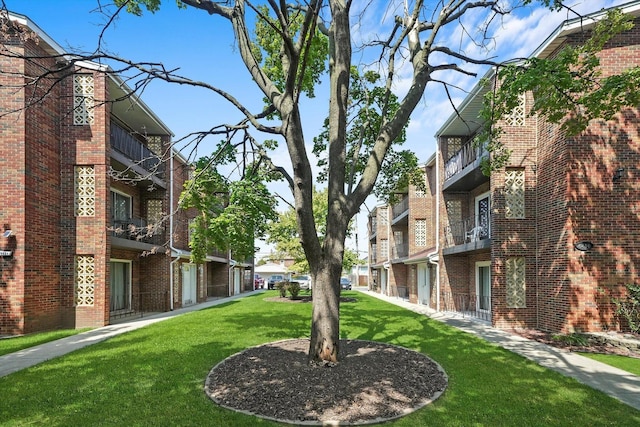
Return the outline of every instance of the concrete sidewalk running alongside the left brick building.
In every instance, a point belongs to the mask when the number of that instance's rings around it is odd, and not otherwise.
[[[78,350],[88,345],[99,343],[115,335],[124,334],[125,332],[133,331],[144,326],[151,325],[153,323],[162,322],[163,320],[169,319],[174,316],[179,316],[190,311],[202,310],[204,308],[213,307],[214,305],[224,304],[238,298],[252,295],[256,292],[262,291],[259,290],[246,292],[231,297],[220,298],[203,302],[201,304],[191,305],[189,307],[184,307],[165,313],[154,314],[149,317],[136,318],[128,322],[120,322],[113,325],[103,326],[101,328],[92,329],[81,334],[61,338],[56,341],[51,341],[35,347],[29,347],[15,353],[9,353],[4,356],[0,356],[0,378],[21,369],[37,365],[38,363],[42,363],[47,360],[65,355],[67,353],[71,353],[72,351]]]

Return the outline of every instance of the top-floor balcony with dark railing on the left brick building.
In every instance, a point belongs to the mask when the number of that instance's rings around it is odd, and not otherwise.
[[[125,168],[146,179],[165,180],[162,159],[128,131],[111,123],[112,157]]]

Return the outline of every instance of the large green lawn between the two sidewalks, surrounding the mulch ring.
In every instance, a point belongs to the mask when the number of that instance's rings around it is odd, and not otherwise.
[[[113,337],[0,378],[0,425],[275,426],[203,392],[211,368],[247,347],[307,337],[311,305],[252,295]],[[342,338],[420,351],[449,377],[433,404],[394,426],[637,426],[640,411],[477,337],[356,292]],[[268,399],[268,396],[265,396]]]

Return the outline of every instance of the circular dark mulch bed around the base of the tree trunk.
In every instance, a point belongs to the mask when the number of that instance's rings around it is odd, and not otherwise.
[[[204,391],[218,405],[296,425],[361,425],[400,418],[436,400],[448,378],[422,353],[340,341],[340,363],[312,366],[308,339],[246,349],[217,364]]]

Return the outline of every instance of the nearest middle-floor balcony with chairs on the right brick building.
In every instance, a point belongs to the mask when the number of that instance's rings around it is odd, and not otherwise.
[[[452,221],[444,228],[445,248],[462,246],[455,252],[484,249],[491,244],[491,216]],[[450,251],[448,251],[450,252]]]

